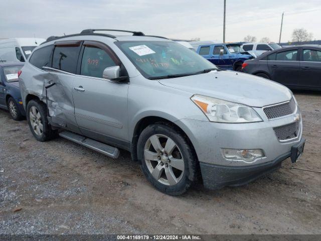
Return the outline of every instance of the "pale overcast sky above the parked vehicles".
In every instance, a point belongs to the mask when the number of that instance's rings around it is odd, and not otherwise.
[[[223,39],[223,0],[0,0],[0,38],[79,33],[88,28],[126,29],[148,35]],[[295,28],[321,39],[321,0],[227,0],[226,41],[291,40]]]

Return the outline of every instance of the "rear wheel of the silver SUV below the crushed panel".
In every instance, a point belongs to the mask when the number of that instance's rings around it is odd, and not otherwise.
[[[27,121],[31,133],[40,141],[45,142],[57,137],[57,130],[52,130],[47,118],[47,106],[38,99],[33,99],[27,105]]]

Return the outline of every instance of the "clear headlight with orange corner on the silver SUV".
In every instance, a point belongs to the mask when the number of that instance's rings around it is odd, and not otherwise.
[[[191,98],[211,122],[250,123],[262,122],[256,111],[247,105],[195,94]]]

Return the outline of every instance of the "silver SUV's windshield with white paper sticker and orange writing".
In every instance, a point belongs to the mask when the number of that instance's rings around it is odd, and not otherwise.
[[[214,64],[169,41],[119,41],[115,43],[145,78],[174,78],[218,69]]]

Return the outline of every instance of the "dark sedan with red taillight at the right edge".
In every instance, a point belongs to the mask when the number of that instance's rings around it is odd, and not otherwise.
[[[293,89],[321,90],[321,46],[300,45],[264,53],[245,61],[242,71]]]

